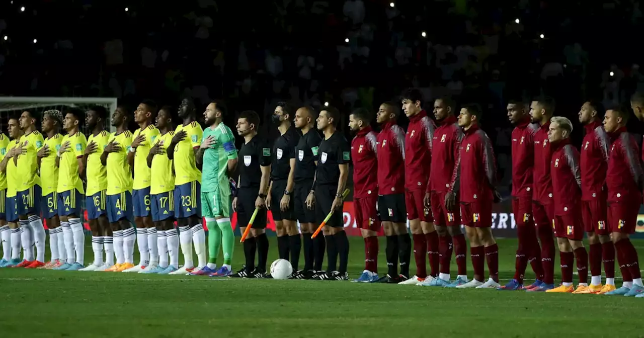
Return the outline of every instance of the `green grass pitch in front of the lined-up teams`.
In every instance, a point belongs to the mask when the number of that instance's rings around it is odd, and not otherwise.
[[[277,258],[270,241],[269,264]],[[350,241],[350,275],[357,277],[363,241]],[[500,278],[507,280],[516,240],[498,243]],[[644,241],[634,243],[644,257]],[[381,241],[381,274],[383,253]],[[90,262],[89,247],[86,255]],[[242,263],[239,245],[234,268]],[[644,299],[621,296],[12,268],[0,269],[0,290],[1,337],[643,335]]]

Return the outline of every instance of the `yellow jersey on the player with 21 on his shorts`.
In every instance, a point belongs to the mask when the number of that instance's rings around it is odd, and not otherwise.
[[[43,147],[43,134],[34,130],[28,135],[20,138],[20,143],[26,149],[26,153],[18,155],[18,181],[16,182],[17,191],[26,191],[33,185],[41,185],[40,176],[38,175],[38,151]]]

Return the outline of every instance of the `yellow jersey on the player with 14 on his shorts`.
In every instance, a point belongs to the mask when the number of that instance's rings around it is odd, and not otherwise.
[[[85,190],[82,187],[82,180],[79,176],[79,162],[87,147],[87,139],[80,131],[74,135],[65,135],[61,140],[61,147],[65,142],[70,142],[70,148],[61,154],[58,162],[58,192],[76,189],[83,194]]]

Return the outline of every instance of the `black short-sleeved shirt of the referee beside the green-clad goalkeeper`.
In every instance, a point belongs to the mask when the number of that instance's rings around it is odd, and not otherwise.
[[[270,165],[270,148],[268,142],[255,135],[248,143],[242,144],[239,152],[241,164],[240,188],[260,187],[261,167]]]

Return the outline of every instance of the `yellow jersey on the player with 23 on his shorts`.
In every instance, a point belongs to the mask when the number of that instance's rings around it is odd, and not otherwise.
[[[180,124],[175,129],[175,134],[185,130],[185,139],[175,146],[175,185],[182,185],[198,181],[201,183],[201,171],[197,169],[194,147],[201,146],[204,130],[196,122],[187,126]]]

